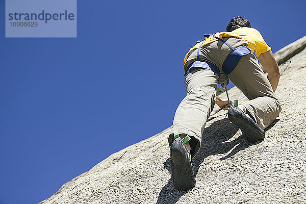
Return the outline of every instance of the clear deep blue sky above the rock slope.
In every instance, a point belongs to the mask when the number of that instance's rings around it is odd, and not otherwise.
[[[78,0],[77,38],[5,38],[1,0],[0,203],[37,203],[169,127],[185,96],[183,58],[203,34],[245,16],[275,52],[306,34],[305,8]]]

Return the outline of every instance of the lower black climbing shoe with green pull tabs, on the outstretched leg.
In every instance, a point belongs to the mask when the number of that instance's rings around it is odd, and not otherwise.
[[[174,141],[170,146],[171,178],[174,188],[179,191],[186,191],[195,186],[191,156],[185,147],[189,140],[189,136],[181,139],[179,133],[174,132]]]

